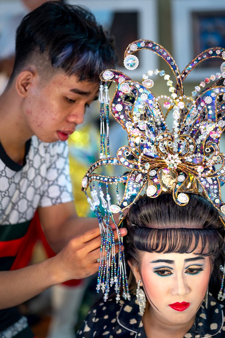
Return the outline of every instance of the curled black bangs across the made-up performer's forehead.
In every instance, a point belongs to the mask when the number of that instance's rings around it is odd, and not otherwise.
[[[221,238],[215,229],[208,228],[149,228],[137,227],[134,245],[138,250],[158,253],[195,254],[217,256]]]

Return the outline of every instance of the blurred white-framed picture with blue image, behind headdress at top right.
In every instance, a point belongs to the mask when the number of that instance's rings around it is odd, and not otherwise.
[[[224,0],[172,0],[171,13],[173,55],[181,71],[204,49],[225,48]],[[217,73],[221,63],[217,57],[202,62],[187,81]]]

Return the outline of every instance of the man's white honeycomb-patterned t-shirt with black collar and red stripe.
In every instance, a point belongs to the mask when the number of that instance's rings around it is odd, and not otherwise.
[[[72,200],[67,142],[44,143],[33,136],[23,165],[13,162],[0,144],[0,270],[13,266],[38,207]],[[20,318],[15,308],[0,310],[0,332]]]

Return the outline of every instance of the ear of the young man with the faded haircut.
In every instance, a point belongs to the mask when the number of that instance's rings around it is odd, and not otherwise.
[[[19,73],[16,80],[16,90],[22,97],[27,96],[28,90],[37,83],[38,74],[35,68]]]

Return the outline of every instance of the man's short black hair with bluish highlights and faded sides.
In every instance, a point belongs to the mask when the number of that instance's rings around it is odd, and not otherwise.
[[[54,68],[81,81],[99,81],[100,72],[116,63],[113,38],[94,15],[59,1],[46,2],[23,18],[17,29],[12,78],[32,57],[41,65],[41,54],[47,54]]]

